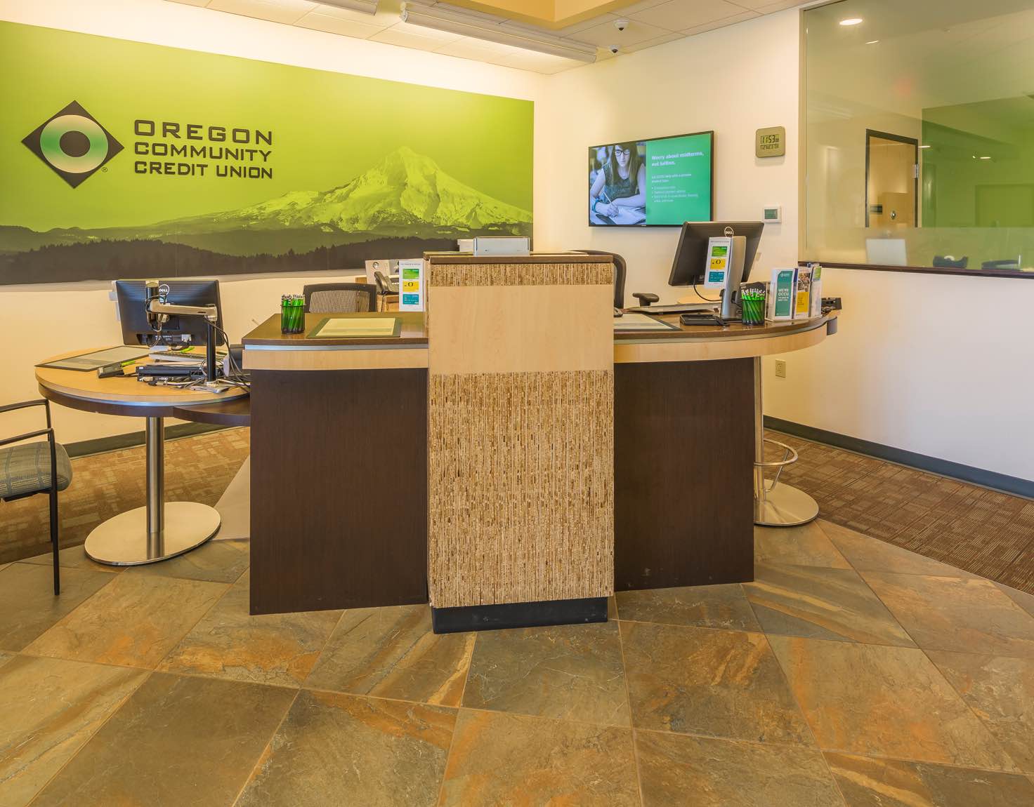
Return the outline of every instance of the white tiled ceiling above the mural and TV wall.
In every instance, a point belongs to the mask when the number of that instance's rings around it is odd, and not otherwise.
[[[324,5],[314,0],[170,0],[170,2],[204,6],[216,11],[229,11],[299,28],[311,28],[420,51],[433,51],[446,56],[458,56],[462,59],[474,59],[540,73],[555,73],[583,64],[559,56],[408,25],[399,19],[400,0],[381,0],[374,15]],[[599,14],[567,28],[548,31],[504,17],[457,8],[437,0],[410,0],[414,5],[436,5],[477,17],[487,24],[498,25],[501,31],[531,30],[595,44],[599,49],[597,58],[601,60],[613,58],[608,50],[611,45],[618,46],[620,56],[781,11],[784,8],[803,5],[804,2],[805,0],[774,2],[772,0],[734,2],[733,0],[642,0],[630,2],[620,12]],[[618,31],[614,27],[614,21],[620,19],[629,21],[624,31]]]

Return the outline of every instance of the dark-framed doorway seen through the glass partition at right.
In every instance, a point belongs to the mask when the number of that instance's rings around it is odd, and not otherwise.
[[[865,226],[918,225],[919,141],[865,129]]]

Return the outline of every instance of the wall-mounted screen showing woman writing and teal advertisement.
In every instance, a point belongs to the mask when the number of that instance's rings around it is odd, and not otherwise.
[[[670,227],[713,218],[714,132],[588,150],[588,223]]]

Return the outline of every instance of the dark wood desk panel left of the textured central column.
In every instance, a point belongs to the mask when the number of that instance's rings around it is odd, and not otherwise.
[[[251,613],[426,602],[427,370],[251,377]]]

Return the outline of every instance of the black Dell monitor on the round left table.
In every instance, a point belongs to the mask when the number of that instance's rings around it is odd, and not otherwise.
[[[115,298],[122,321],[122,343],[127,345],[155,345],[189,342],[203,345],[208,341],[207,322],[201,316],[170,316],[158,333],[147,318],[147,292],[145,280],[116,280]],[[216,345],[222,338],[222,308],[219,305],[218,280],[162,280],[169,287],[168,302],[178,306],[209,306],[219,309]]]

